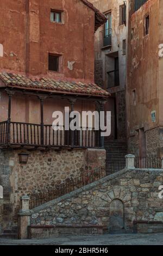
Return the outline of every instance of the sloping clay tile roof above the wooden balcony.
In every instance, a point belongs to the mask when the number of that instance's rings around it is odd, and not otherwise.
[[[95,83],[59,81],[52,78],[29,78],[24,75],[1,73],[1,87],[22,88],[27,90],[40,90],[59,94],[77,94],[107,97],[110,94]]]

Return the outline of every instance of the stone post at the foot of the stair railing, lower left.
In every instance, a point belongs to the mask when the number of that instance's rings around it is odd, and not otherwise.
[[[28,239],[28,226],[30,225],[30,210],[28,196],[21,197],[22,209],[18,214],[18,239]]]

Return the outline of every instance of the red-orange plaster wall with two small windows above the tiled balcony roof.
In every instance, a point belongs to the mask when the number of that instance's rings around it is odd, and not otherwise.
[[[63,24],[51,9],[64,11]],[[0,0],[0,70],[93,82],[94,32],[95,13],[80,0]],[[61,72],[48,72],[48,52],[62,54]]]

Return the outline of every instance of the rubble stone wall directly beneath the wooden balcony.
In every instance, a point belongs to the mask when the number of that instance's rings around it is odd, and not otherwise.
[[[5,150],[0,155],[0,185],[4,188],[0,232],[17,225],[20,197],[43,191],[69,178],[105,165],[105,150],[74,149],[30,151],[27,164],[20,164],[21,150]],[[92,161],[92,156],[96,157]],[[0,210],[1,212],[1,210]],[[3,226],[3,227],[2,227]]]

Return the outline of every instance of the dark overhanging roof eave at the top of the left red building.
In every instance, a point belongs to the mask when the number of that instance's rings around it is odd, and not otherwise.
[[[99,11],[96,7],[94,7],[93,4],[90,3],[89,1],[87,0],[81,0],[81,1],[84,4],[86,4],[88,7],[90,7],[93,11],[95,11],[95,32],[96,32],[97,29],[107,21],[107,18],[103,13],[101,13],[101,11]]]

